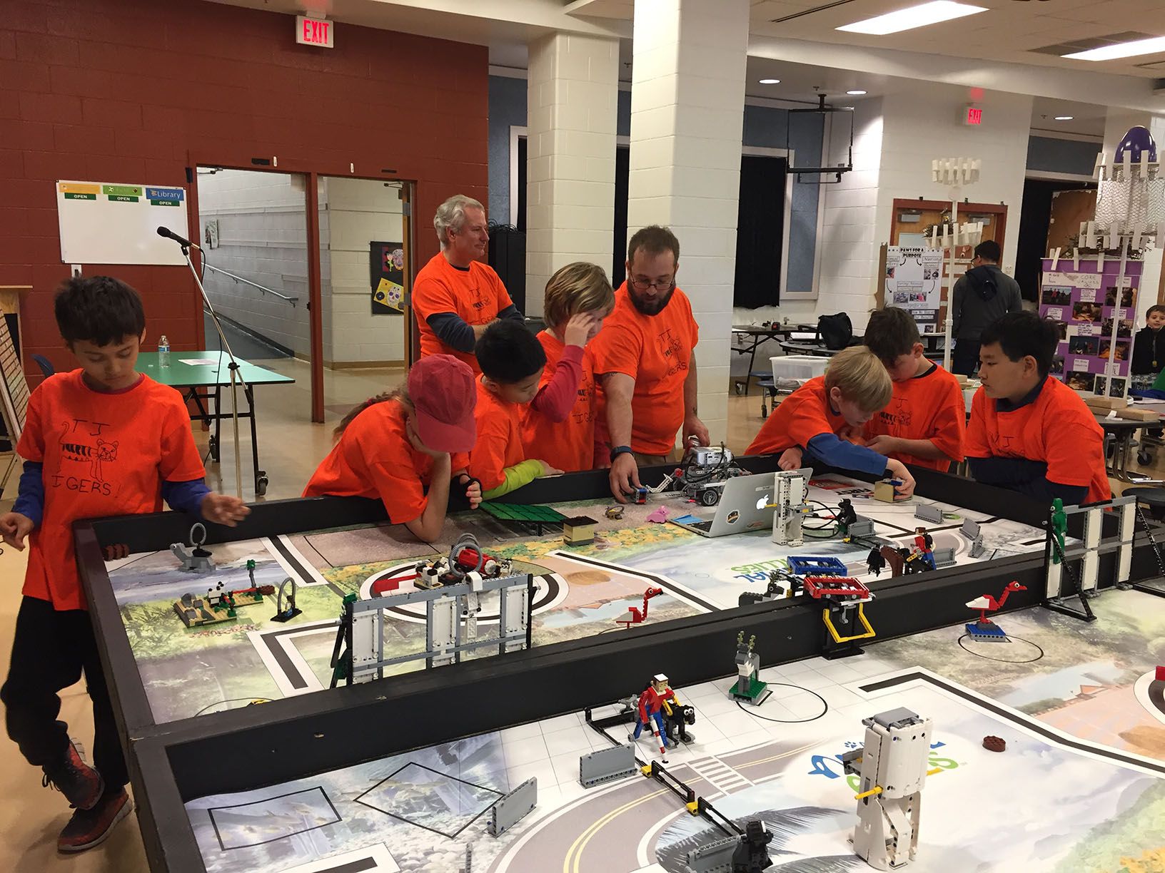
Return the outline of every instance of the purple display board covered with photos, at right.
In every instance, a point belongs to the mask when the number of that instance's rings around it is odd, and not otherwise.
[[[1088,393],[1124,397],[1142,263],[1044,260],[1039,314],[1060,326],[1052,375]]]

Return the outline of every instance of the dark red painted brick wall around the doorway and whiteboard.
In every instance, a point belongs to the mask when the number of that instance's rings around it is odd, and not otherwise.
[[[437,205],[486,198],[488,58],[478,45],[347,27],[336,49],[294,42],[294,19],[197,0],[3,3],[0,284],[31,284],[28,354],[70,365],[51,292],[68,276],[57,179],[184,185],[193,162],[417,182],[416,262]],[[197,227],[195,217],[191,227]],[[176,350],[199,345],[197,290],[178,267],[89,267],[126,279]],[[150,331],[156,336],[157,331]],[[33,368],[35,370],[35,368]],[[33,372],[29,370],[29,372]]]

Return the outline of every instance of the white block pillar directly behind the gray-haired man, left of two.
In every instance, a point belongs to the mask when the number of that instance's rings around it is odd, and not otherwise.
[[[619,43],[574,34],[536,40],[527,83],[527,311],[541,315],[557,269],[610,262]]]

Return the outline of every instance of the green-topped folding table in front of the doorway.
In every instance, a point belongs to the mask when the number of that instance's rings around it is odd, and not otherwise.
[[[189,364],[184,360],[210,360],[213,364]],[[247,400],[246,411],[239,410],[239,418],[250,421],[250,461],[255,471],[255,496],[262,497],[267,494],[267,471],[259,467],[259,435],[255,428],[255,385],[287,385],[295,382],[290,376],[284,376],[275,370],[259,367],[241,357],[235,357],[239,363],[239,372],[242,376],[246,388],[241,390],[242,397]],[[211,460],[218,463],[221,441],[219,430],[223,419],[231,419],[231,411],[223,411],[223,389],[231,389],[231,370],[228,364],[231,357],[225,352],[171,352],[169,367],[161,367],[157,362],[157,352],[142,352],[137,355],[137,369],[144,372],[155,382],[176,388],[182,396],[195,404],[198,410],[192,413],[192,421],[202,421],[210,426],[214,423],[214,433],[211,435]],[[241,388],[241,386],[240,386]],[[211,412],[211,402],[214,403],[214,411]],[[241,483],[240,483],[241,484]]]

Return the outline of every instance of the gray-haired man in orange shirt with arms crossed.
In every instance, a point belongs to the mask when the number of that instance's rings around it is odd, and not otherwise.
[[[421,356],[453,355],[481,372],[473,354],[486,327],[502,318],[522,320],[494,269],[482,262],[489,243],[486,211],[465,194],[437,207],[433,228],[440,251],[417,274],[412,311]]]

